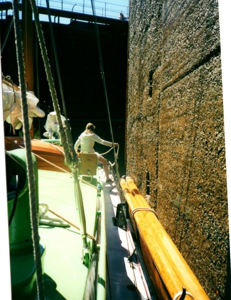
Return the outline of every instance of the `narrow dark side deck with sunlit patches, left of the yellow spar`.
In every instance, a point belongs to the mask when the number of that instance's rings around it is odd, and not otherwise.
[[[101,170],[102,172],[102,170]],[[104,180],[102,178],[102,180]],[[106,299],[154,299],[151,297],[145,280],[140,257],[135,250],[128,224],[125,227],[114,225],[117,205],[121,198],[115,183],[103,182],[106,215]],[[129,262],[129,256],[132,256]]]

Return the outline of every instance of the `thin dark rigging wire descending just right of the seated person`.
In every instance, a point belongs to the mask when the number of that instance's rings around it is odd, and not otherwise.
[[[120,175],[119,175],[118,162],[117,162],[115,145],[114,145],[114,137],[113,137],[113,131],[112,131],[112,124],[111,124],[109,104],[108,104],[107,89],[106,89],[106,82],[105,82],[104,69],[103,69],[103,58],[102,58],[102,52],[101,52],[101,46],[100,46],[100,40],[99,40],[99,30],[98,30],[98,25],[97,25],[97,18],[96,18],[94,0],[91,0],[91,6],[92,6],[92,12],[93,12],[93,18],[94,18],[94,25],[95,25],[95,32],[96,32],[96,40],[97,40],[97,46],[98,46],[100,71],[101,71],[101,76],[102,76],[102,81],[103,81],[103,88],[104,88],[104,94],[105,94],[105,99],[106,99],[107,113],[108,113],[108,119],[109,119],[109,126],[110,126],[110,132],[111,132],[112,143],[113,143],[114,160],[115,160],[116,176],[117,176],[117,185],[118,185],[118,188],[120,189],[120,185],[119,185]]]

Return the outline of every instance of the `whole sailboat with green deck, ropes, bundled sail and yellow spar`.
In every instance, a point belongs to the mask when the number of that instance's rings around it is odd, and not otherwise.
[[[18,3],[13,1],[20,88],[11,83],[9,94],[17,89],[21,99],[21,116],[13,127],[22,126],[23,137],[5,137],[4,144],[12,299],[208,299],[135,180],[120,177],[115,148],[115,163],[108,164],[112,184],[96,154],[75,152],[33,0],[31,6],[59,138],[31,137],[31,117],[43,112],[36,97],[28,105],[31,93],[23,78]]]

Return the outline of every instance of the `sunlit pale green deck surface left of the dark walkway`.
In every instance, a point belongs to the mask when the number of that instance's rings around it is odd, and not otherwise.
[[[93,180],[91,184],[97,186],[97,180]],[[97,229],[97,214],[98,214],[98,191],[95,187],[85,183],[80,183],[87,232],[95,235]],[[102,197],[102,192],[101,192]],[[102,200],[102,199],[101,199]],[[102,201],[104,202],[104,201]],[[59,215],[65,217],[70,222],[80,225],[78,211],[75,205],[74,183],[71,175],[61,172],[39,170],[39,203],[48,204],[49,208],[54,210]],[[100,251],[92,257],[92,263],[86,267],[82,263],[82,237],[80,231],[73,226],[52,227],[39,226],[39,235],[41,242],[46,248],[44,256],[44,286],[45,292],[49,292],[51,297],[50,283],[53,286],[53,295],[59,295],[68,300],[85,299],[85,287],[87,281],[91,296],[100,293],[100,299],[105,298],[105,222],[104,222],[104,204],[101,206],[101,245]],[[52,213],[47,213],[51,217],[55,217]],[[90,248],[93,249],[93,243],[90,238],[87,238]],[[99,255],[99,256],[98,256]],[[96,267],[99,262],[99,267]],[[95,271],[99,270],[100,281],[103,285],[95,282]],[[90,271],[89,271],[90,270]],[[90,274],[93,273],[93,274]],[[89,275],[88,275],[89,274]],[[93,280],[90,279],[93,277]],[[90,287],[89,287],[90,285]],[[49,289],[49,290],[48,290]],[[92,297],[96,298],[97,296]],[[51,297],[52,298],[52,297]]]

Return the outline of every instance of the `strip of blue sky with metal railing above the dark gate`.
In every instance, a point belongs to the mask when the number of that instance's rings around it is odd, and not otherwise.
[[[10,2],[10,0],[0,0],[1,2]],[[20,1],[21,2],[21,1]],[[122,13],[126,18],[128,18],[129,14],[129,6],[128,5],[120,5],[115,3],[109,3],[105,1],[94,1],[95,12],[97,16],[104,16],[108,18],[120,18],[120,13]],[[125,1],[126,2],[126,1]],[[127,0],[128,2],[128,0]],[[36,0],[37,6],[46,7],[46,0]],[[92,15],[92,6],[91,0],[49,0],[49,7],[54,9],[60,9],[65,11],[72,11],[84,14]],[[9,11],[9,13],[11,13]],[[1,18],[4,18],[4,13],[1,12]],[[45,15],[40,16],[43,20],[46,20]],[[59,20],[62,23],[67,23],[69,20],[65,20],[65,18],[61,18],[63,20]],[[47,18],[48,20],[48,18]]]

